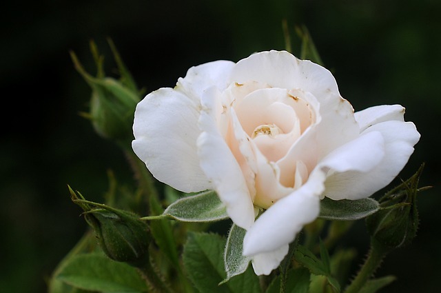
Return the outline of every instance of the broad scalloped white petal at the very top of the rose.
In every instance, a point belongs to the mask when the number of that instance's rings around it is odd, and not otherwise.
[[[258,81],[273,88],[301,88],[320,97],[325,92],[338,94],[331,72],[307,60],[299,60],[286,51],[259,52],[238,61],[230,82]]]

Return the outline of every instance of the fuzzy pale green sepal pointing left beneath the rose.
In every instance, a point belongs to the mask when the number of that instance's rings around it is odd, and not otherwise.
[[[164,214],[185,222],[220,221],[228,218],[225,205],[213,190],[178,199],[165,209]]]

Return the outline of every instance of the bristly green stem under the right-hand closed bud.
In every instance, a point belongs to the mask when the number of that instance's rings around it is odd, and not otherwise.
[[[384,256],[390,251],[389,247],[385,247],[375,239],[371,239],[371,250],[360,272],[358,272],[352,283],[346,288],[345,293],[360,292],[365,283],[373,275],[373,273],[380,267]]]

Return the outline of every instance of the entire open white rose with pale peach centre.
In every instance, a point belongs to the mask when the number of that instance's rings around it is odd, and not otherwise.
[[[269,274],[320,199],[362,199],[402,170],[420,134],[400,105],[354,114],[331,72],[288,52],[190,68],[135,112],[134,152],[183,192],[216,190]],[[258,212],[264,211],[255,220]]]

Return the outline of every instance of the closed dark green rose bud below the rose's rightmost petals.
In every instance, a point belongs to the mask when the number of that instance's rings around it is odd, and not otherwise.
[[[422,168],[380,199],[380,210],[366,218],[371,236],[386,247],[409,244],[418,229],[416,196]]]

